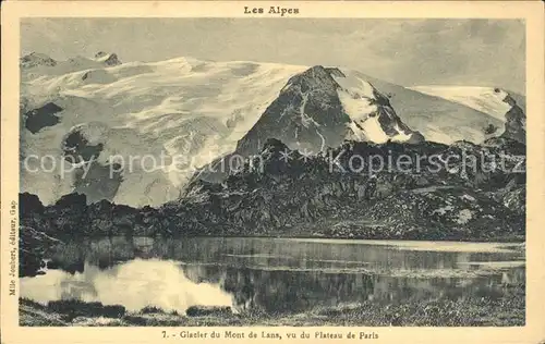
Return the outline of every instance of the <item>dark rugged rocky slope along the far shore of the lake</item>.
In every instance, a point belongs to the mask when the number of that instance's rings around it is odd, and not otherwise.
[[[518,157],[524,146],[507,140],[501,146],[347,142],[319,156],[305,157],[269,139],[223,183],[195,181],[179,200],[158,208],[132,208],[107,200],[87,205],[84,195],[72,194],[43,212],[25,212],[21,221],[57,237],[128,234],[520,241],[525,231],[525,172],[516,167],[521,163]],[[484,158],[471,169],[446,159],[462,159],[463,155]],[[404,157],[412,164],[409,169],[407,162],[385,168],[375,164],[376,157],[384,161]],[[502,159],[502,168],[492,168],[498,162],[486,157]],[[38,204],[34,196],[22,194],[22,207],[28,202]]]

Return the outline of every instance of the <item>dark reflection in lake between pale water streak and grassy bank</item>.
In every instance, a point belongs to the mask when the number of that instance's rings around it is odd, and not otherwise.
[[[398,304],[431,298],[460,299],[502,295],[502,283],[523,281],[523,269],[476,278],[397,278],[385,274],[330,273],[318,270],[256,270],[225,266],[183,265],[195,283],[219,284],[233,295],[238,309],[259,308],[267,312],[300,312],[373,300]],[[507,280],[506,280],[507,279]]]

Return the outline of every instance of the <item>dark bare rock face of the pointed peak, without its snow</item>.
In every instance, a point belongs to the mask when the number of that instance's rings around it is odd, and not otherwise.
[[[318,152],[342,143],[350,118],[343,111],[331,73],[336,69],[315,65],[292,76],[250,132],[237,151],[256,153],[268,138],[292,149]]]

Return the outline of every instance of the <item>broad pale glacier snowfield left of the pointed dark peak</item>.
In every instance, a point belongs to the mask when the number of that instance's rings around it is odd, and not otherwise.
[[[80,65],[95,67],[66,74],[62,72],[70,69],[59,65],[39,66],[39,72],[23,70],[26,109],[53,101],[64,110],[58,113],[59,124],[37,134],[23,133],[22,153],[62,157],[66,133],[86,124],[89,144],[104,144],[101,163],[116,156],[142,157],[133,161],[131,171],[125,161],[124,181],[113,199],[133,206],[175,198],[193,168],[234,150],[288,78],[305,70],[185,58],[100,69],[93,61]],[[22,191],[39,195],[46,204],[71,192],[73,175],[27,172],[38,168],[32,160],[29,169],[23,169]]]

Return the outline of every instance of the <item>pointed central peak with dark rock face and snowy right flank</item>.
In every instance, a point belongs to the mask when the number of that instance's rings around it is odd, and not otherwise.
[[[337,147],[347,138],[374,143],[423,140],[396,114],[387,96],[361,75],[322,65],[288,81],[239,142],[237,151],[256,153],[269,137],[291,149],[314,153]]]

